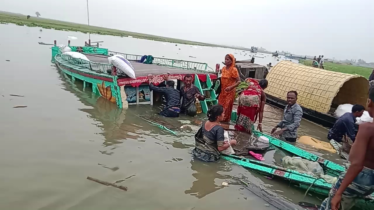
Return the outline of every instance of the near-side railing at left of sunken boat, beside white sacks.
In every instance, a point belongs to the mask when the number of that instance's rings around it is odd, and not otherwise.
[[[73,58],[70,55],[61,54],[61,58],[69,63],[82,67],[88,68],[89,70],[96,72],[96,73],[107,73],[107,70],[111,70],[111,64],[104,64],[104,63],[96,63],[92,61],[86,61],[80,58]]]

